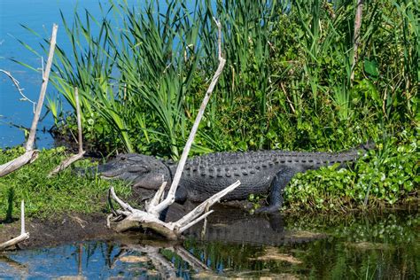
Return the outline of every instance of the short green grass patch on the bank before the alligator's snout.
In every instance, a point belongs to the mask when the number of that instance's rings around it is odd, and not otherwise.
[[[25,152],[22,147],[0,151],[0,162],[7,162]],[[20,200],[25,200],[27,217],[54,219],[64,213],[95,213],[105,210],[110,182],[97,176],[76,176],[66,169],[52,178],[47,175],[66,158],[64,148],[43,150],[34,163],[0,178],[0,220],[19,217]],[[89,160],[78,162],[92,166]],[[118,193],[128,197],[130,188],[113,182]]]

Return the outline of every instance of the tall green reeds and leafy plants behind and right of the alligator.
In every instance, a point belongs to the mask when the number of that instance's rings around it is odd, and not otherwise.
[[[62,15],[73,50],[58,44],[51,82],[73,106],[79,88],[92,149],[179,157],[218,64],[215,17],[227,64],[191,153],[341,151],[373,140],[354,169],[298,175],[289,206],[418,199],[418,0],[365,2],[354,69],[354,1],[157,3],[111,1],[102,19],[86,11],[72,24]],[[58,132],[74,131],[74,116],[52,100]]]

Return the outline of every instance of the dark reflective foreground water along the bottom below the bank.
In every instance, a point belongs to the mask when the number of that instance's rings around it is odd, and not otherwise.
[[[210,222],[203,238],[200,227],[191,229],[180,244],[138,235],[7,253],[0,277],[420,277],[418,213],[271,220],[237,214],[221,222]]]

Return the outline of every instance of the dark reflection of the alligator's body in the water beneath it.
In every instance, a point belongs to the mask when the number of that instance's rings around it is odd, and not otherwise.
[[[165,222],[183,218],[192,208],[193,206],[188,204],[169,206]],[[212,210],[214,213],[206,218],[205,228],[202,223],[198,223],[184,231],[183,235],[202,241],[222,240],[241,245],[300,244],[326,237],[321,232],[293,229],[293,226],[284,221],[284,214],[280,212],[255,215],[226,204],[215,205]]]

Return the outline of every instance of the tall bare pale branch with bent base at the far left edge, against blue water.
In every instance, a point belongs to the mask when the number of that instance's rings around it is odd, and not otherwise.
[[[47,66],[45,67],[45,72],[43,73],[43,84],[41,86],[38,104],[36,105],[34,120],[32,121],[31,130],[27,138],[27,144],[25,145],[26,152],[25,154],[21,155],[19,158],[13,159],[12,161],[9,161],[1,165],[0,177],[15,171],[19,169],[20,167],[23,167],[27,163],[33,162],[38,156],[38,152],[34,150],[36,127],[38,125],[39,117],[41,115],[41,110],[43,108],[43,99],[45,97],[45,92],[47,90],[48,80],[50,77],[52,58],[54,56],[54,50],[55,50],[56,41],[57,41],[57,30],[58,30],[58,26],[54,24],[52,26],[50,53],[48,56]]]

